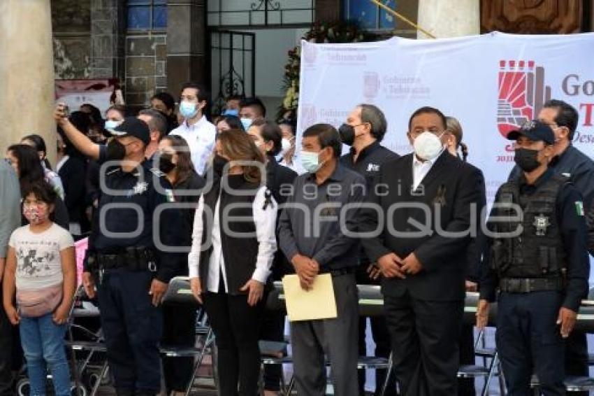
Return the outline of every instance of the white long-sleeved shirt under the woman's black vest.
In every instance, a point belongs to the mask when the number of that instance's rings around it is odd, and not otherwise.
[[[277,204],[273,199],[273,205],[267,205],[263,208],[266,192],[266,187],[261,187],[256,193],[252,211],[254,213],[254,224],[256,225],[256,239],[258,240],[258,256],[256,258],[256,269],[252,274],[252,279],[260,283],[266,283],[266,279],[270,276],[270,267],[273,265],[274,254],[277,250],[275,228],[277,216]],[[225,260],[222,252],[221,244],[221,227],[219,219],[219,199],[215,206],[215,218],[212,222],[212,253],[208,264],[208,279],[206,281],[206,288],[209,292],[219,291],[220,274],[223,274],[223,282],[225,291],[229,292],[227,285],[227,274],[225,267]],[[194,232],[192,232],[192,245],[188,255],[188,269],[189,277],[197,278],[200,274],[198,268],[200,264],[203,221],[202,213],[204,211],[204,198],[200,197],[198,201],[198,208],[196,208],[196,215],[194,215]]]

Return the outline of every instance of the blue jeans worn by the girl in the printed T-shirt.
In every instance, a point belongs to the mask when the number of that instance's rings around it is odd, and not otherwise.
[[[56,325],[52,314],[21,318],[20,335],[31,396],[45,396],[46,365],[52,374],[56,396],[70,396],[70,372],[64,350],[66,325]]]

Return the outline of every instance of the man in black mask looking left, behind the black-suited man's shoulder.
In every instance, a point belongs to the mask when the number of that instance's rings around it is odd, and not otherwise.
[[[353,169],[365,178],[367,188],[372,188],[373,179],[379,174],[382,164],[396,160],[398,154],[379,143],[384,139],[388,124],[384,113],[372,104],[356,106],[340,126],[338,132],[342,143],[351,146],[348,154],[340,157],[340,162]],[[370,263],[365,251],[361,248],[359,265],[356,270],[356,281],[359,285],[379,285],[379,269]],[[390,336],[384,316],[370,318],[371,332],[375,342],[375,355],[388,358],[390,355]],[[359,355],[365,355],[365,328],[367,318],[359,318]],[[386,370],[378,370],[375,377],[375,394],[379,395],[386,378]],[[395,379],[386,388],[386,395],[396,394]],[[359,395],[365,395],[365,370],[359,370]]]

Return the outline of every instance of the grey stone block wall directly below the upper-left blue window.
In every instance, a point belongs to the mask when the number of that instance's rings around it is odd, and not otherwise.
[[[149,105],[155,92],[167,88],[166,34],[126,37],[126,104],[133,108]]]

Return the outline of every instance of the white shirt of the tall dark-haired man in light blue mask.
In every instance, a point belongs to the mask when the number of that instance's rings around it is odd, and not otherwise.
[[[189,125],[187,120],[182,125],[173,129],[171,135],[184,138],[190,148],[191,160],[194,162],[194,169],[198,174],[203,175],[206,169],[206,163],[215,148],[215,138],[217,128],[212,125],[203,115],[198,122]]]

